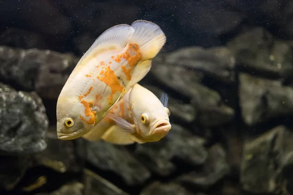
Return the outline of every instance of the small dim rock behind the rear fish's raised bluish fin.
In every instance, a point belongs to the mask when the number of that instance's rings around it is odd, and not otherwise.
[[[150,90],[157,98],[160,98],[163,91],[158,87],[151,85],[143,85],[146,89]],[[170,120],[178,123],[191,123],[195,119],[195,110],[190,104],[179,102],[179,100],[168,96],[167,105],[171,115]]]

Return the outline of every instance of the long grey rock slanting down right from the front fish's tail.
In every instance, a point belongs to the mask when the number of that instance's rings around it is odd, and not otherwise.
[[[150,74],[160,83],[190,98],[200,124],[217,126],[228,123],[234,117],[234,110],[223,102],[218,92],[199,83],[203,77],[201,73],[182,66],[161,64],[158,58],[154,63]]]

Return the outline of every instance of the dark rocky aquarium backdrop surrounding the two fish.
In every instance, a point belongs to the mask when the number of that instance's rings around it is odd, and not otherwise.
[[[135,20],[166,35],[139,84],[167,94],[171,129],[59,139],[74,67]],[[0,0],[0,195],[293,195],[292,119],[293,1]]]

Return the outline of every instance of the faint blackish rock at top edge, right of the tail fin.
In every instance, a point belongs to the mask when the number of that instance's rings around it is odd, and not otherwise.
[[[238,26],[244,16],[224,7],[223,1],[187,1],[179,10],[178,20],[192,34],[221,35]],[[194,19],[194,20],[190,20]]]

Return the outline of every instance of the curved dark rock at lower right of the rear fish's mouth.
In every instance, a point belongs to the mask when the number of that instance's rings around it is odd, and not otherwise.
[[[215,144],[209,149],[209,156],[202,170],[184,174],[177,180],[192,186],[209,188],[229,172],[230,166],[226,162],[226,152],[220,144]]]

